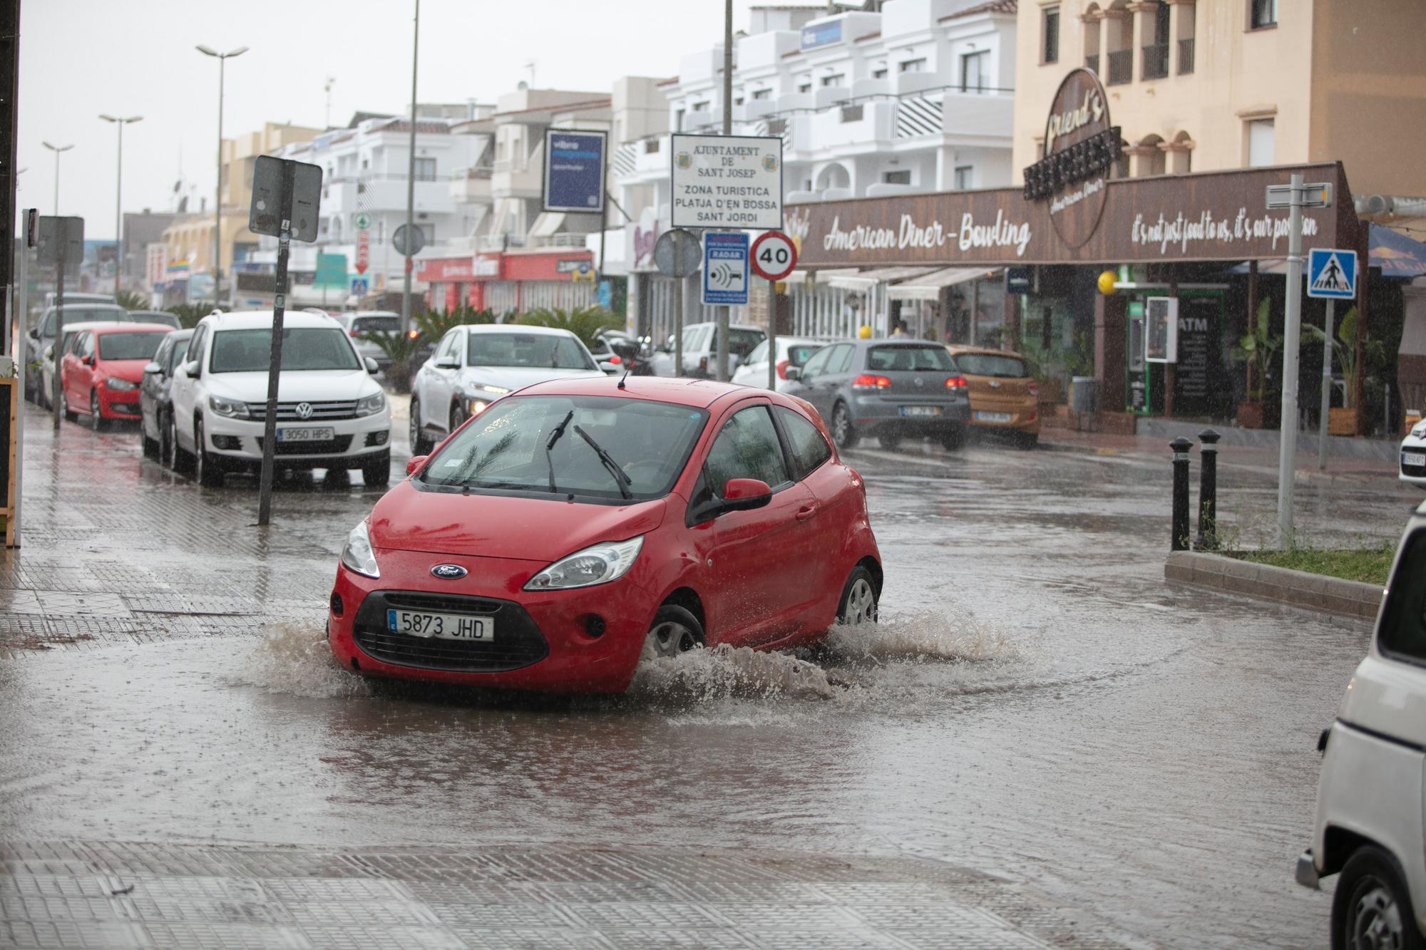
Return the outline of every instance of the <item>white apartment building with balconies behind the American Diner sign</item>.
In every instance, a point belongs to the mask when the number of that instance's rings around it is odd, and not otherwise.
[[[733,50],[733,134],[783,138],[787,204],[1014,181],[1015,0],[886,0],[871,10],[769,6],[752,10]],[[880,7],[880,9],[876,9]],[[662,84],[669,131],[722,131],[723,46],[684,56]],[[636,224],[627,228],[630,328],[663,339],[672,285],[653,267],[669,227],[669,131],[619,148],[615,171]],[[796,235],[793,235],[796,237]],[[901,275],[906,277],[915,277]],[[794,332],[886,328],[888,280],[794,274]],[[684,292],[684,322],[712,318]],[[767,300],[733,320],[766,321]]]

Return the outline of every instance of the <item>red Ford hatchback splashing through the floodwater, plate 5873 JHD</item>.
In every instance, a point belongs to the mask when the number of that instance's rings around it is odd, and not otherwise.
[[[542,382],[351,532],[332,653],[369,676],[620,692],[640,656],[876,620],[861,476],[807,404],[720,382]]]

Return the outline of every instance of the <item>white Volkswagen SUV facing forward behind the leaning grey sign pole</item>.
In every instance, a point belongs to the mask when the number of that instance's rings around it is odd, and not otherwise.
[[[174,372],[168,436],[175,468],[217,485],[225,471],[262,464],[272,311],[214,312],[198,321],[187,362]],[[331,317],[282,318],[278,468],[361,469],[368,485],[391,478],[391,408],[347,331]]]

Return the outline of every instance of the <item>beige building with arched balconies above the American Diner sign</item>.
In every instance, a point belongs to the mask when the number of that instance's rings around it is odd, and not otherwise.
[[[1426,195],[1423,34],[1423,0],[1020,0],[1015,174],[1082,66],[1121,174],[1342,160],[1358,195]]]

